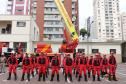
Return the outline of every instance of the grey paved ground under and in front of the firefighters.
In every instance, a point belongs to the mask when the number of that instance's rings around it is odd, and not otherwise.
[[[56,81],[56,78],[54,79],[53,82],[50,82],[50,77],[48,79],[46,79],[46,82],[38,82],[37,81],[37,76],[35,76],[34,78],[31,78],[31,81],[28,82],[27,80],[25,81],[20,81],[21,79],[21,71],[18,70],[18,80],[17,81],[14,81],[14,78],[12,76],[12,79],[10,81],[6,80],[7,79],[7,76],[8,76],[8,72],[6,72],[5,74],[0,74],[0,84],[42,84],[42,83],[45,83],[45,84],[67,84],[67,83],[70,83],[69,81],[68,82],[65,82],[64,81],[64,76],[62,75],[62,73],[60,73],[60,82],[57,82]],[[118,81],[115,82],[115,81],[108,81],[106,78],[103,78],[101,82],[98,82],[98,81],[95,81],[95,82],[92,82],[92,79],[88,79],[88,82],[85,82],[83,79],[81,80],[81,82],[78,82],[77,79],[75,78],[75,76],[73,75],[73,82],[71,84],[91,84],[91,83],[94,83],[94,84],[108,84],[108,83],[111,83],[111,84],[126,84],[126,64],[119,64],[118,65],[118,69],[117,69],[117,78],[118,78]]]

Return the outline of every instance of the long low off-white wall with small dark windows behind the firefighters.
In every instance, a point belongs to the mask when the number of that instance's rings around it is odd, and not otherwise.
[[[51,43],[53,52],[58,52],[58,49],[61,46],[61,43]],[[95,55],[92,54],[92,49],[99,49],[99,52],[101,55],[106,54],[107,57],[110,55],[110,49],[116,49],[116,59],[118,63],[122,62],[122,56],[121,56],[121,43],[105,43],[105,42],[92,42],[92,43],[86,43],[81,42],[76,48],[76,51],[78,49],[85,49],[85,53],[87,56]]]

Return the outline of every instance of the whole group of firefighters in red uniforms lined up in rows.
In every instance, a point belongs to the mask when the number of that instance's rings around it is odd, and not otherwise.
[[[9,77],[7,80],[11,79],[12,72],[14,73],[15,80],[17,80],[16,68],[18,61],[16,56],[12,54],[8,58],[7,63],[9,65]],[[90,76],[92,76],[93,81],[96,80],[96,77],[98,81],[101,81],[101,77],[104,77],[105,74],[108,74],[109,81],[117,81],[115,76],[117,63],[113,52],[110,53],[108,58],[106,55],[102,57],[98,53],[94,57],[90,56],[89,58],[84,53],[77,53],[75,58],[71,58],[70,54],[66,54],[62,61],[58,54],[55,54],[52,60],[49,61],[45,53],[40,53],[38,57],[34,55],[29,57],[26,53],[22,61],[21,81],[24,81],[25,74],[27,74],[27,79],[30,81],[30,75],[34,77],[34,73],[38,74],[38,81],[41,81],[41,78],[45,81],[49,75],[49,67],[52,71],[50,81],[53,81],[55,75],[57,76],[57,81],[60,81],[59,70],[61,68],[63,68],[65,81],[67,79],[72,81],[73,74],[78,78],[78,81],[81,81],[82,77],[84,77],[85,81],[88,81]]]

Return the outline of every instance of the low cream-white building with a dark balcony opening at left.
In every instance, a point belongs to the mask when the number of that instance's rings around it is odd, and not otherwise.
[[[39,41],[39,28],[31,16],[0,15],[0,43],[16,49],[21,43],[26,52],[33,52]]]

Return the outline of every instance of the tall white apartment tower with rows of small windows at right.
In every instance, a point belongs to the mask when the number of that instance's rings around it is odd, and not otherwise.
[[[119,0],[94,0],[94,32],[100,40],[122,40]]]

